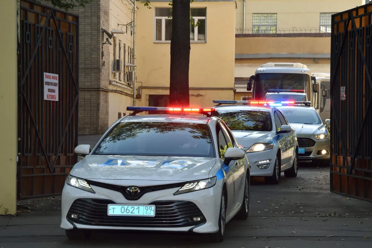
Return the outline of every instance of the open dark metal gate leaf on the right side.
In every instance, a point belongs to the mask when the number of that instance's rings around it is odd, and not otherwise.
[[[372,201],[372,4],[332,15],[331,192]]]

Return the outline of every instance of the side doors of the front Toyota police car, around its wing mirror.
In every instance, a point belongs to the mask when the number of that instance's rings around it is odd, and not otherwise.
[[[227,140],[228,147],[239,148],[238,144],[236,144],[235,139],[230,135],[228,131],[228,127],[225,123],[219,122],[222,132]],[[245,159],[235,160],[235,163],[230,163],[229,167],[231,168],[232,172],[232,184],[233,184],[233,194],[232,197],[234,198],[234,203],[232,203],[232,210],[241,204],[241,199],[244,195],[244,183],[245,183],[245,167],[244,167]],[[243,193],[242,193],[243,192]]]

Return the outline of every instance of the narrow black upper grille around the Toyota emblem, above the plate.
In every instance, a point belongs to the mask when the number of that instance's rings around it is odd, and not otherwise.
[[[185,183],[173,183],[173,184],[164,184],[164,185],[155,185],[155,186],[143,186],[143,187],[136,187],[139,189],[138,194],[136,195],[131,195],[128,194],[127,189],[129,187],[132,187],[130,185],[128,186],[120,186],[120,185],[115,185],[115,184],[108,184],[108,183],[100,183],[92,180],[86,180],[87,183],[90,185],[94,185],[97,187],[109,189],[109,190],[114,190],[122,193],[122,195],[125,197],[127,200],[138,200],[140,199],[145,193],[153,192],[153,191],[158,191],[158,190],[166,190],[166,189],[173,189],[177,187],[182,187]]]

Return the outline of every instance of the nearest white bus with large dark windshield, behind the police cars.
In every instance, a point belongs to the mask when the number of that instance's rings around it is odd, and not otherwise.
[[[316,103],[320,86],[302,63],[269,62],[257,68],[249,77],[247,90],[252,90],[253,100],[263,100],[273,90],[303,91],[312,105]]]

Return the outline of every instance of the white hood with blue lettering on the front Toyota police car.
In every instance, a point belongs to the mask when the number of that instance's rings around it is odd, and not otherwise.
[[[84,179],[190,181],[208,178],[215,164],[216,158],[87,155],[70,174]]]

